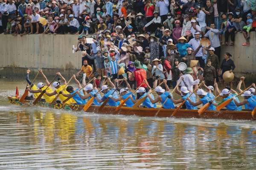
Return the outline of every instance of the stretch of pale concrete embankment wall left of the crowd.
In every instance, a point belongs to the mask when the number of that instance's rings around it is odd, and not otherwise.
[[[72,53],[77,45],[74,35],[24,35],[0,34],[0,75],[23,76],[27,68],[32,74],[42,68],[46,75],[57,71],[70,77],[81,68],[81,52]]]

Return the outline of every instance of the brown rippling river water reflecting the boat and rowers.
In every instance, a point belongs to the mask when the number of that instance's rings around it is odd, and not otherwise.
[[[256,169],[253,121],[111,116],[9,104],[0,79],[0,169]]]

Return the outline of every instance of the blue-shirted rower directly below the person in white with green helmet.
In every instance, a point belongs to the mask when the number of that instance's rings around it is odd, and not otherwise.
[[[182,103],[184,100],[186,100],[188,98],[188,96],[191,94],[190,91],[188,91],[188,88],[186,88],[186,86],[183,86],[180,88],[180,91],[178,90],[178,88],[176,88],[176,91],[175,91],[177,94],[179,94],[180,96],[182,96],[180,99],[178,100],[175,100],[172,98],[172,102],[174,102],[175,104],[178,104],[178,103]],[[192,94],[190,97],[189,97],[190,101],[192,102],[196,102],[196,96],[195,94]],[[193,106],[188,100],[186,100],[185,102],[185,106],[186,106],[186,109],[189,109],[189,110],[196,110],[197,107]]]

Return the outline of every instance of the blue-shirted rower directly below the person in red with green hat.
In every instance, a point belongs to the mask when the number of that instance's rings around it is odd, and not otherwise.
[[[137,93],[140,94],[140,99],[142,99],[143,97],[147,96],[150,92],[151,92],[151,87],[148,85],[148,82],[144,79],[144,82],[145,84],[148,86],[148,93],[146,92],[146,89],[143,88],[143,87],[140,87],[138,90],[137,90]],[[154,96],[153,94],[150,94],[150,97],[151,99],[154,99]],[[137,101],[133,99],[133,97],[130,96],[130,99],[132,100],[133,103],[136,103]],[[145,107],[145,108],[157,108],[157,105],[156,104],[153,104],[149,97],[146,97],[146,99],[142,102],[142,106]]]

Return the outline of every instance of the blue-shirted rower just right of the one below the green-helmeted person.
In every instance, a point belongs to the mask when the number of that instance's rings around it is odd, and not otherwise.
[[[191,105],[193,106],[198,106],[201,104],[205,105],[209,102],[211,105],[209,106],[209,108],[207,108],[207,110],[216,111],[216,106],[218,104],[212,101],[212,98],[207,95],[207,92],[205,92],[203,89],[198,89],[197,95],[200,98],[198,102],[192,102],[189,98],[187,99],[191,103]]]

